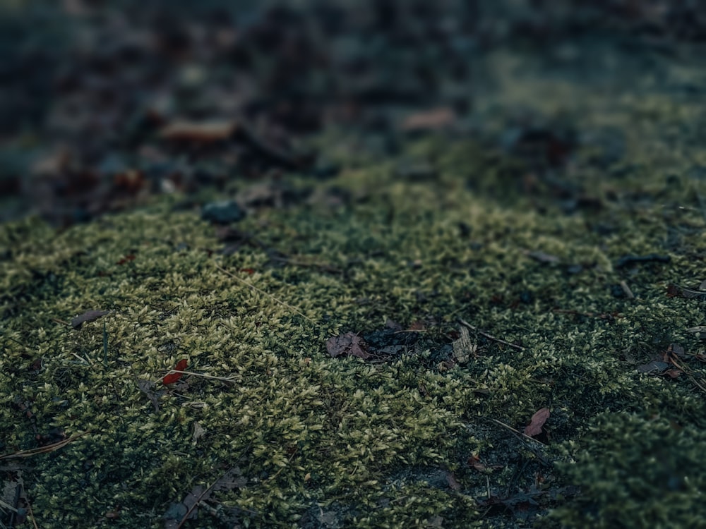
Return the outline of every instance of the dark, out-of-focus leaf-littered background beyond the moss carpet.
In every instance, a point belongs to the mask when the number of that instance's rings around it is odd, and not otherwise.
[[[614,171],[626,123],[650,129],[649,115],[611,116],[705,86],[698,1],[4,0],[0,13],[2,221],[68,226],[158,193],[325,179],[342,145],[389,157],[425,134],[520,160],[570,209],[587,191],[567,183],[576,153]],[[694,127],[680,145],[700,142]]]

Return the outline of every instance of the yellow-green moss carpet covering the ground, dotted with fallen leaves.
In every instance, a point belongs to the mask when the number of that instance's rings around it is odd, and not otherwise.
[[[564,175],[590,183],[598,211],[564,214],[542,181],[525,192],[520,162],[436,138],[404,151],[435,176],[405,180],[397,161],[341,151],[347,169],[318,186],[342,203],[323,193],[239,222],[289,262],[248,246],[221,255],[178,198],[60,233],[35,219],[3,226],[0,451],[35,446],[34,425],[88,432],[24,462],[37,523],[156,528],[169,504],[238,466],[245,485],[215,493],[218,511],[187,527],[220,527],[228,513],[268,528],[697,526],[704,346],[686,329],[704,324],[704,305],[666,286],[704,279],[705,211],[687,174],[698,153],[685,160],[664,128],[647,132],[692,103],[660,101],[611,114],[626,152],[610,170],[586,150]],[[571,118],[591,130],[602,115]],[[626,254],[671,260],[618,269]],[[612,288],[621,281],[635,299]],[[94,309],[112,312],[66,324]],[[524,350],[471,333],[476,354],[450,366],[458,318]],[[388,319],[426,322],[421,346],[380,363],[328,355],[330,336]],[[670,343],[686,350],[683,375],[638,371]],[[180,358],[235,383],[161,388]],[[155,382],[158,411],[139,379]],[[548,446],[493,422],[521,430],[543,407]],[[493,508],[489,492],[529,499]]]

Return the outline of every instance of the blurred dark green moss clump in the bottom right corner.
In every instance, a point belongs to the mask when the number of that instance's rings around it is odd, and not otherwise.
[[[706,464],[706,435],[659,416],[604,413],[580,443],[563,449],[558,468],[580,485],[575,501],[556,509],[541,526],[698,527]]]

